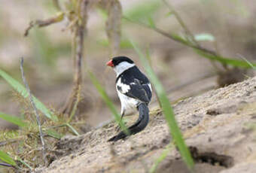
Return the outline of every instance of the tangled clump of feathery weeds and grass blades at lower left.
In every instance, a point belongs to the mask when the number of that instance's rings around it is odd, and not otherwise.
[[[41,158],[40,150],[36,149],[40,146],[38,143],[39,132],[38,125],[35,121],[35,111],[32,110],[31,103],[28,99],[29,94],[22,84],[1,69],[0,76],[2,76],[10,86],[17,91],[15,95],[17,97],[17,102],[23,105],[23,118],[14,117],[8,114],[0,114],[0,118],[22,127],[16,131],[2,131],[0,133],[0,148],[10,152],[12,156],[15,156],[15,158],[19,158],[17,160],[23,164],[22,167],[29,167],[24,160],[29,160],[32,167],[37,167],[38,164],[41,164],[43,159]],[[35,102],[36,108],[44,114],[43,117],[41,116],[41,120],[44,122],[42,131],[45,134],[44,139],[46,140],[48,148],[53,147],[54,143],[52,141],[59,140],[62,137],[62,134],[69,133],[68,129],[71,129],[75,135],[79,135],[76,129],[71,125],[71,123],[73,123],[72,117],[66,117],[64,114],[59,114],[56,111],[49,110],[42,102],[36,99],[35,96],[32,98]],[[13,165],[7,157],[5,158],[5,153],[3,153],[2,157],[0,156],[0,159]]]

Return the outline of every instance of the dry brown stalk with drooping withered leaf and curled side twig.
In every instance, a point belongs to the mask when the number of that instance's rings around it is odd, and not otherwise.
[[[72,93],[62,108],[63,114],[70,115],[78,100],[78,87],[82,83],[82,60],[84,57],[84,38],[86,33],[88,11],[94,7],[99,7],[108,12],[108,20],[106,21],[106,33],[111,48],[111,56],[118,53],[120,49],[120,24],[122,18],[122,8],[119,0],[75,0],[59,3],[53,0],[53,5],[57,10],[61,11],[55,17],[47,20],[32,21],[26,29],[25,36],[29,34],[29,30],[34,26],[44,27],[53,23],[59,23],[66,17],[69,20],[69,26],[66,29],[72,31],[72,59],[74,63],[73,87]],[[63,8],[63,9],[62,9]]]

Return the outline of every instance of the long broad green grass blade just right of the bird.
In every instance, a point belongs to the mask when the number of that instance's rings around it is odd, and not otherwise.
[[[193,171],[194,161],[191,157],[190,151],[187,149],[187,145],[184,142],[181,130],[178,128],[178,124],[176,123],[172,107],[170,105],[169,99],[166,96],[166,92],[163,89],[160,80],[158,80],[157,75],[154,74],[154,71],[152,70],[142,51],[133,41],[131,41],[131,43],[133,44],[133,48],[136,50],[136,53],[139,54],[139,59],[142,61],[142,64],[144,65],[145,70],[147,71],[148,77],[150,78],[151,83],[153,83],[154,85],[154,88],[157,92],[157,96],[159,97],[160,103],[162,105],[163,114],[168,123],[170,133],[172,134],[172,138],[178,147],[179,153],[181,153],[181,157],[186,163],[187,168],[189,168],[190,171]]]

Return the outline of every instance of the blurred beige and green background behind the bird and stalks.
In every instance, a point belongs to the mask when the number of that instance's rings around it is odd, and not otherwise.
[[[58,11],[52,0],[0,0],[0,68],[21,81],[20,57],[25,59],[25,72],[32,93],[46,105],[62,108],[72,89],[71,32],[66,29],[66,20],[44,28],[33,28],[28,37],[23,34],[29,22],[47,19]],[[62,2],[62,1],[60,1]],[[65,2],[65,1],[63,1]],[[254,62],[256,55],[256,5],[249,0],[184,0],[168,1],[181,16],[187,27],[200,44],[215,50],[222,56],[238,57],[238,54]],[[120,0],[123,15],[142,23],[151,23],[169,33],[184,37],[181,28],[169,8],[162,1]],[[104,11],[90,11],[87,36],[84,45],[84,61],[105,86],[111,99],[120,106],[114,88],[115,74],[105,67],[111,58],[105,33]],[[169,38],[152,29],[122,20],[120,51],[118,54],[130,56],[139,65],[139,59],[129,43],[129,39],[139,42],[151,54],[151,65],[163,82],[169,99],[180,98],[216,88],[215,66]],[[214,41],[209,41],[209,36]],[[208,38],[206,38],[208,37]],[[216,64],[219,69],[222,66]],[[109,120],[111,113],[105,107],[99,94],[83,71],[83,100],[78,105],[79,115],[87,123],[98,126]],[[196,81],[196,82],[191,82]],[[190,85],[188,85],[190,83]],[[193,83],[193,84],[191,84]],[[153,99],[155,100],[155,98]],[[154,106],[154,101],[151,104]],[[12,96],[11,87],[0,79],[0,111],[19,115],[19,105]],[[0,128],[11,125],[0,120]]]

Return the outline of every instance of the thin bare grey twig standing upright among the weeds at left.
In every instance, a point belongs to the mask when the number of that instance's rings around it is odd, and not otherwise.
[[[42,152],[43,152],[44,164],[47,165],[47,159],[46,159],[46,155],[45,155],[44,136],[43,136],[43,132],[42,132],[42,130],[41,130],[40,117],[39,117],[39,114],[38,114],[38,110],[37,110],[37,108],[35,107],[35,102],[33,101],[32,94],[31,94],[31,91],[30,91],[30,89],[29,89],[29,84],[26,82],[26,77],[25,77],[24,70],[23,70],[23,62],[24,62],[24,59],[23,59],[23,57],[22,57],[22,58],[20,59],[20,71],[21,71],[21,74],[22,74],[23,83],[25,84],[26,90],[27,90],[27,92],[29,93],[29,100],[30,100],[30,103],[31,103],[32,108],[34,109],[34,112],[35,112],[36,123],[38,124],[38,130],[39,130],[39,135],[40,135],[40,139],[41,139],[41,145],[42,145]]]

